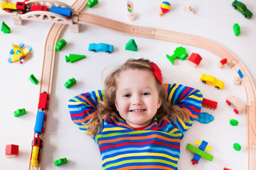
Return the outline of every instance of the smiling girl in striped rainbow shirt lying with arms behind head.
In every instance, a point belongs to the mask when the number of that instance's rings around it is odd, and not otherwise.
[[[201,91],[162,84],[149,60],[127,60],[105,91],[70,99],[74,123],[100,147],[102,169],[178,169],[183,133],[201,112]]]

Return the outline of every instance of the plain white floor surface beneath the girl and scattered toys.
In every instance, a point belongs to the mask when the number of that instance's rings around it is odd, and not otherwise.
[[[64,2],[72,5],[74,0]],[[255,16],[250,20],[242,16],[231,6],[232,0],[170,0],[169,2],[171,10],[160,17],[161,1],[134,1],[134,13],[137,16],[134,21],[127,19],[127,1],[124,0],[99,0],[99,4],[93,8],[85,8],[83,11],[132,25],[161,28],[215,40],[235,54],[255,82]],[[242,2],[256,15],[256,1],[243,0]],[[183,11],[183,6],[188,5],[196,11],[196,14]],[[28,169],[40,93],[44,45],[52,23],[23,21],[23,26],[16,26],[9,16],[1,16],[0,21],[4,21],[11,28],[11,34],[0,33],[0,169]],[[238,23],[241,28],[241,34],[238,37],[233,33],[234,23]],[[68,44],[61,52],[57,52],[55,57],[42,169],[101,169],[98,147],[71,121],[68,100],[87,91],[102,89],[102,72],[105,70],[104,77],[107,72],[130,57],[148,58],[159,65],[166,83],[193,86],[200,89],[205,98],[218,101],[218,108],[215,111],[202,108],[202,112],[208,112],[214,116],[215,120],[212,123],[204,125],[195,122],[193,128],[186,132],[181,142],[181,159],[178,169],[222,170],[224,167],[233,170],[247,169],[245,111],[236,115],[233,108],[225,103],[225,98],[233,95],[245,104],[245,91],[242,85],[233,84],[233,78],[237,74],[232,69],[228,66],[223,69],[218,67],[220,61],[218,56],[190,45],[138,38],[97,26],[82,25],[80,33],[71,33],[67,27],[59,40],[63,38]],[[137,42],[137,52],[124,50],[130,39]],[[23,64],[7,62],[11,44],[21,42],[30,45],[33,48],[32,52]],[[87,48],[92,42],[112,44],[114,52],[110,55],[103,52],[89,52]],[[175,64],[172,65],[166,59],[166,54],[172,55],[176,47],[181,46],[186,47],[188,55],[196,52],[203,57],[199,67],[192,67],[188,60],[175,60]],[[65,62],[65,55],[70,53],[87,57],[71,64]],[[199,79],[202,73],[213,75],[224,81],[225,88],[217,90],[213,86],[201,84]],[[38,85],[28,80],[31,74],[39,80]],[[71,78],[75,78],[77,84],[70,89],[65,89],[65,81]],[[13,112],[18,108],[25,108],[27,114],[15,118]],[[229,120],[233,118],[239,121],[238,127],[229,125]],[[195,140],[209,142],[212,150],[206,152],[213,155],[213,162],[201,159],[198,165],[191,164],[193,153],[186,149],[186,145],[191,143],[197,146],[194,143]],[[240,152],[233,149],[235,142],[241,145]],[[19,145],[18,157],[7,159],[4,156],[4,148],[9,144]],[[53,162],[63,157],[68,159],[68,164],[54,166]]]

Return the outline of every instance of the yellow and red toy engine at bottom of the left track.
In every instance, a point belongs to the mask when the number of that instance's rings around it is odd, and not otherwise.
[[[43,145],[43,141],[40,137],[34,137],[32,141],[32,152],[31,152],[31,165],[38,166],[40,161],[40,149]]]

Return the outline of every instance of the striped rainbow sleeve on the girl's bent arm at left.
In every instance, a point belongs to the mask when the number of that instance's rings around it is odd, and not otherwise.
[[[100,100],[103,100],[103,96],[104,91],[98,90],[80,94],[68,101],[71,119],[82,132],[86,132],[86,124],[90,121],[92,115],[97,113],[97,105]]]

